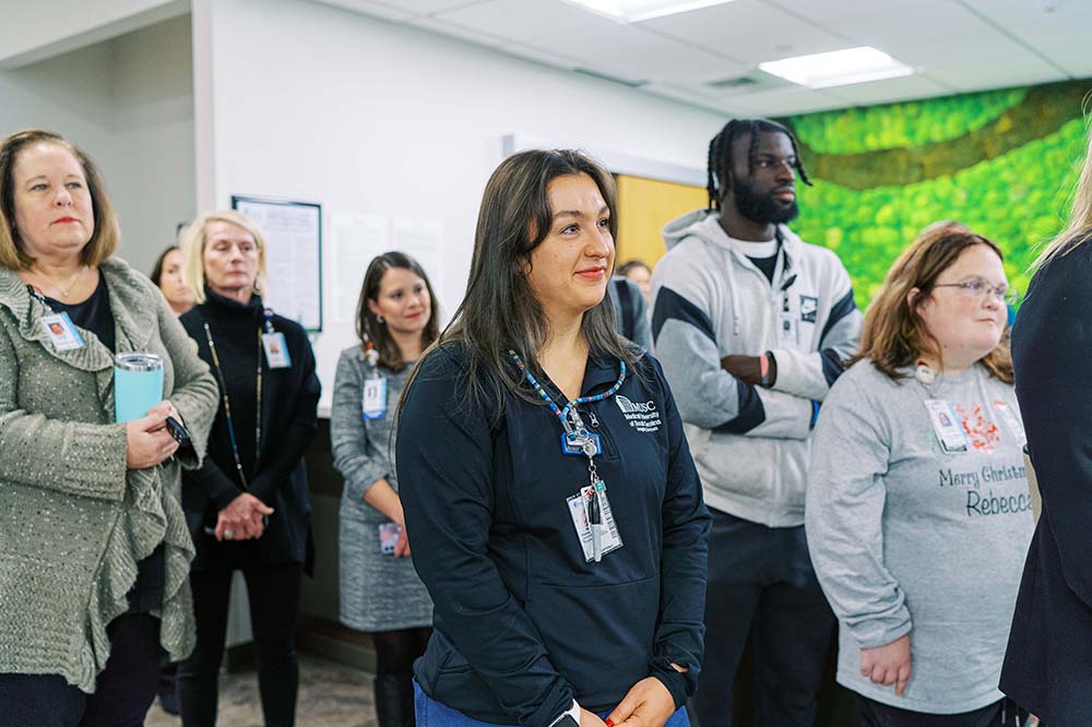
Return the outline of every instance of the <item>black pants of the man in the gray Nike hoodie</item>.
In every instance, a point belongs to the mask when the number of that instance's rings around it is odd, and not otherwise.
[[[692,714],[700,727],[732,726],[736,671],[750,636],[755,724],[811,727],[834,615],[804,526],[772,528],[710,512],[705,657]]]

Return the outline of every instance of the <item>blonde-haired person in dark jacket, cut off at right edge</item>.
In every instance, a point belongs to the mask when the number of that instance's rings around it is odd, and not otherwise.
[[[1001,690],[1048,727],[1092,724],[1092,135],[1066,229],[1036,261],[1012,332],[1043,510]]]

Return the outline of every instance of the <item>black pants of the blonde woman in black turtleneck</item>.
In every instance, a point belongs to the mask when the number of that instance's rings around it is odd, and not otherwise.
[[[296,723],[299,663],[296,657],[296,617],[302,567],[284,563],[242,569],[250,596],[250,620],[258,651],[258,690],[266,727]],[[232,589],[229,568],[190,574],[198,645],[178,665],[178,702],[185,727],[213,727],[219,692],[219,664],[227,630]]]

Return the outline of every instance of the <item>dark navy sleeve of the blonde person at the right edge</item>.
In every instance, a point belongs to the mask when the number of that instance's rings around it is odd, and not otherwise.
[[[1057,543],[1066,584],[1092,608],[1092,241],[1036,273],[1012,335],[1017,398],[1044,527]]]

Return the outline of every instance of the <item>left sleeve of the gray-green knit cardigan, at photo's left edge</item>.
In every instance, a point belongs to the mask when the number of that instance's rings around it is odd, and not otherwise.
[[[15,347],[0,326],[2,479],[120,501],[126,489],[126,426],[62,421],[21,409],[16,395],[20,377]]]

